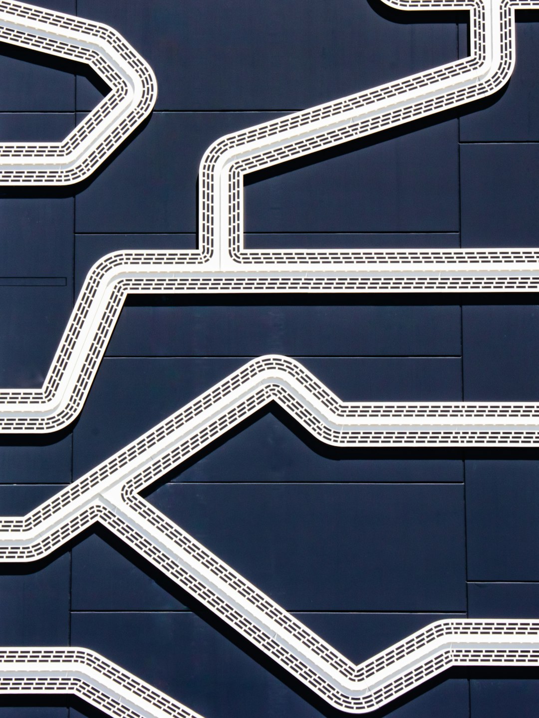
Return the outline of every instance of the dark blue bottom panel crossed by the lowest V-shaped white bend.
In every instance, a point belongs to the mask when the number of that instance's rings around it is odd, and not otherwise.
[[[310,617],[298,614],[300,620]],[[427,618],[428,622],[428,618]],[[354,614],[318,615],[321,633],[345,645],[350,635],[361,630],[361,617]],[[390,622],[395,625],[395,622]],[[413,622],[402,623],[414,625]],[[415,624],[417,625],[417,623]],[[203,715],[283,715],[315,718],[321,706],[311,705],[298,684],[282,681],[282,674],[267,671],[260,656],[249,655],[192,613],[78,613],[73,617],[72,638],[107,653],[132,671],[143,673],[161,689],[180,698]],[[402,635],[394,626],[383,637]],[[245,648],[242,646],[242,648]],[[157,660],[157,658],[159,660]],[[211,678],[210,678],[211,676]],[[72,714],[75,718],[77,714]],[[395,718],[466,718],[466,681],[446,681],[433,691],[415,696],[412,702],[395,709]]]

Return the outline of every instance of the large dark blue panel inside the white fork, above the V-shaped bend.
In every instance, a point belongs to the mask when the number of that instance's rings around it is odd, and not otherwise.
[[[151,501],[287,610],[466,609],[461,486],[167,484]]]

